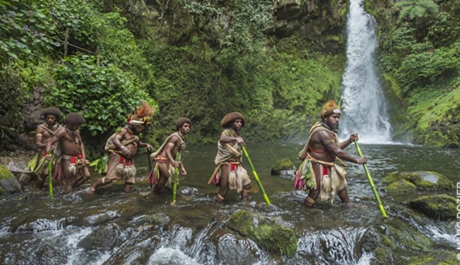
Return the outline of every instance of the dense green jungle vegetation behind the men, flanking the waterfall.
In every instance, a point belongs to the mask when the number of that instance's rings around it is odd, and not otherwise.
[[[366,1],[396,136],[458,147],[460,1]],[[43,107],[86,118],[91,153],[144,100],[145,136],[179,116],[216,142],[224,114],[248,141],[305,138],[345,69],[343,0],[0,0],[0,149],[24,146]],[[67,42],[66,42],[67,40]]]

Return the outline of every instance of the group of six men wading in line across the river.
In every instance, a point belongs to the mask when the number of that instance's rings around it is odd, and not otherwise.
[[[153,109],[148,104],[137,109],[136,114],[128,116],[126,126],[112,134],[106,142],[105,150],[108,153],[106,176],[94,182],[89,189],[92,193],[99,187],[110,182],[123,181],[123,191],[130,193],[133,189],[136,176],[134,155],[139,148],[146,147],[152,151],[151,145],[141,142],[139,134],[151,123]],[[85,123],[81,114],[70,113],[65,118],[65,125],[59,125],[61,112],[49,107],[44,109],[43,116],[46,123],[37,127],[36,145],[40,149],[37,159],[53,162],[52,177],[66,186],[66,191],[78,189],[81,184],[90,178],[89,162],[86,160],[85,149],[79,127]],[[306,206],[313,206],[317,198],[328,198],[339,195],[342,202],[349,202],[346,189],[346,170],[335,164],[335,160],[344,165],[348,162],[366,163],[366,157],[354,158],[343,151],[350,143],[358,139],[352,134],[348,140],[339,142],[337,129],[341,111],[333,100],[326,103],[321,109],[321,120],[310,129],[305,147],[299,153],[302,160],[294,182],[295,189],[308,192]],[[250,178],[246,169],[241,166],[241,149],[246,143],[240,131],[246,124],[246,118],[239,112],[226,114],[221,120],[223,131],[217,143],[217,156],[214,159],[214,172],[209,184],[220,187],[216,195],[218,202],[225,200],[228,190],[237,190],[241,199],[246,200],[250,192]],[[176,122],[176,131],[164,140],[163,144],[150,155],[154,161],[148,176],[152,192],[158,194],[165,186],[172,184],[174,169],[179,168],[182,175],[186,175],[183,167],[181,151],[186,147],[185,136],[190,131],[189,118],[179,118]],[[34,169],[37,173],[37,186],[43,188],[47,171],[43,163],[37,163],[42,168]]]

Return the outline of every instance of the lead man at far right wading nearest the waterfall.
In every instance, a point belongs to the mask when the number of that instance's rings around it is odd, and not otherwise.
[[[346,188],[346,170],[336,165],[334,161],[340,158],[357,164],[367,162],[365,156],[354,158],[342,150],[354,140],[358,140],[358,134],[352,134],[348,140],[339,142],[337,129],[340,116],[339,106],[334,100],[329,100],[323,105],[321,121],[312,126],[305,147],[299,153],[299,159],[303,162],[297,171],[294,188],[308,192],[304,202],[306,206],[313,206],[318,196],[321,201],[328,200],[332,196],[333,201],[337,193],[342,202],[350,202]]]

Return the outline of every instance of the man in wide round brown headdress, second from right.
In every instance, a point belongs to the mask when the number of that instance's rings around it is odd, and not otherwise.
[[[245,123],[246,119],[239,112],[229,113],[221,121],[221,127],[226,129],[217,142],[217,156],[214,159],[216,168],[208,182],[221,187],[216,197],[218,202],[223,202],[229,189],[241,193],[242,200],[249,197],[251,180],[246,169],[241,167],[241,146],[245,142],[239,134]]]

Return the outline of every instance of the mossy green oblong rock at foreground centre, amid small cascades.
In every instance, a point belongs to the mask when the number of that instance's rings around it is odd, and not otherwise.
[[[294,231],[261,215],[241,210],[230,216],[227,226],[272,253],[288,257],[297,253]]]

